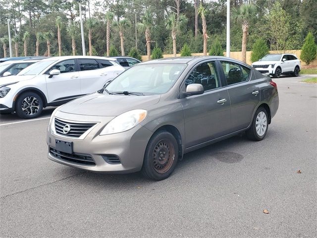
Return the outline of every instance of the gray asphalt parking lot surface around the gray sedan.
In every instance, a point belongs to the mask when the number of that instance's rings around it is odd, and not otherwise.
[[[263,141],[191,152],[159,182],[47,159],[53,108],[1,116],[0,237],[317,237],[317,85],[304,78],[273,79],[280,104]]]

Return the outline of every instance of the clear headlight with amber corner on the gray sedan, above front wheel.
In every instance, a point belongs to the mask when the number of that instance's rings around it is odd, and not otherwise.
[[[100,135],[108,135],[132,129],[147,117],[147,111],[138,109],[123,113],[112,119]]]

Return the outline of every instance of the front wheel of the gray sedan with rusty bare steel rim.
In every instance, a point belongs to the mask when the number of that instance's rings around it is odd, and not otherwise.
[[[153,180],[168,178],[178,160],[178,144],[168,131],[156,132],[150,139],[142,166],[142,174]]]

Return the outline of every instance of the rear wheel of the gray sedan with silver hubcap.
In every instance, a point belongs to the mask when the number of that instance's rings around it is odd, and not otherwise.
[[[246,131],[248,139],[255,141],[264,139],[268,128],[267,118],[268,117],[265,108],[258,108],[252,120],[251,127]]]

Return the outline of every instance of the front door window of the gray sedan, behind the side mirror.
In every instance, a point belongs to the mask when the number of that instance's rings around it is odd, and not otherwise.
[[[205,62],[198,65],[185,81],[188,84],[199,83],[208,91],[220,87],[219,74],[216,71],[215,62]]]

